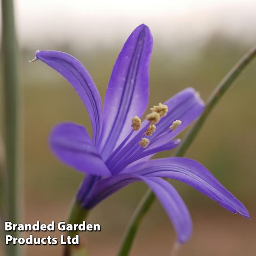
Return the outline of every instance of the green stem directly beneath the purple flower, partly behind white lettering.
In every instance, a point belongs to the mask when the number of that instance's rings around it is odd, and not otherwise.
[[[82,207],[77,201],[74,201],[73,206],[71,208],[71,212],[68,218],[69,224],[82,224],[82,222],[85,220],[85,218],[88,216],[89,210]],[[78,231],[69,231],[67,233],[70,237],[75,237],[75,235],[78,234]],[[63,256],[71,256],[71,245],[66,245],[64,247]]]

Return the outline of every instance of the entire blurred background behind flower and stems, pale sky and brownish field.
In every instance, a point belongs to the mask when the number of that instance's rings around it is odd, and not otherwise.
[[[14,3],[22,51],[26,223],[64,221],[82,180],[81,174],[50,153],[47,140],[51,128],[73,121],[91,131],[87,112],[68,82],[39,61],[28,63],[36,50],[74,55],[86,66],[103,98],[124,41],[135,27],[146,23],[155,42],[150,108],[186,87],[196,88],[206,100],[256,43],[255,0]],[[187,185],[172,182],[191,210],[194,224],[192,238],[182,247],[180,256],[256,255],[255,99],[256,61],[219,102],[187,153],[244,203],[251,220],[229,213]],[[133,184],[92,210],[87,221],[100,223],[102,231],[81,235],[90,256],[115,255],[123,230],[145,191],[145,184]],[[156,202],[143,221],[131,256],[168,256],[174,241],[174,229]],[[26,250],[27,256],[60,255],[62,247],[27,246]]]

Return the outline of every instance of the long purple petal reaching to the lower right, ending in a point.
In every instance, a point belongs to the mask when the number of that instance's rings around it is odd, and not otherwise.
[[[147,177],[162,177],[179,180],[194,187],[202,194],[217,201],[222,207],[249,217],[247,209],[201,164],[195,160],[183,157],[171,157],[149,160],[133,165],[124,173],[146,175]]]

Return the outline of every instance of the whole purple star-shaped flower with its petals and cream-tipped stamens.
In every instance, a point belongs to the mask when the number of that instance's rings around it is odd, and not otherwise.
[[[77,194],[80,206],[91,209],[122,187],[145,182],[165,208],[178,241],[186,242],[192,232],[190,214],[178,192],[163,178],[187,183],[233,213],[247,218],[249,214],[195,160],[181,157],[151,160],[156,153],[178,146],[180,140],[174,138],[204,110],[198,93],[187,88],[165,103],[153,106],[141,122],[149,98],[152,46],[151,32],[144,24],[128,37],[114,64],[104,114],[99,92],[77,59],[64,52],[37,51],[36,59],[59,72],[77,91],[87,108],[93,131],[90,138],[83,126],[61,123],[50,134],[50,148],[64,164],[86,173]]]

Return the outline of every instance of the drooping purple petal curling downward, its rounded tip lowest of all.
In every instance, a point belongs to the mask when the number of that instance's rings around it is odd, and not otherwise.
[[[192,222],[187,206],[175,188],[161,178],[143,177],[136,174],[119,174],[105,178],[95,183],[91,194],[85,201],[82,201],[82,204],[87,209],[90,209],[119,189],[138,181],[144,181],[151,187],[172,221],[178,234],[178,241],[186,242],[192,233]]]

